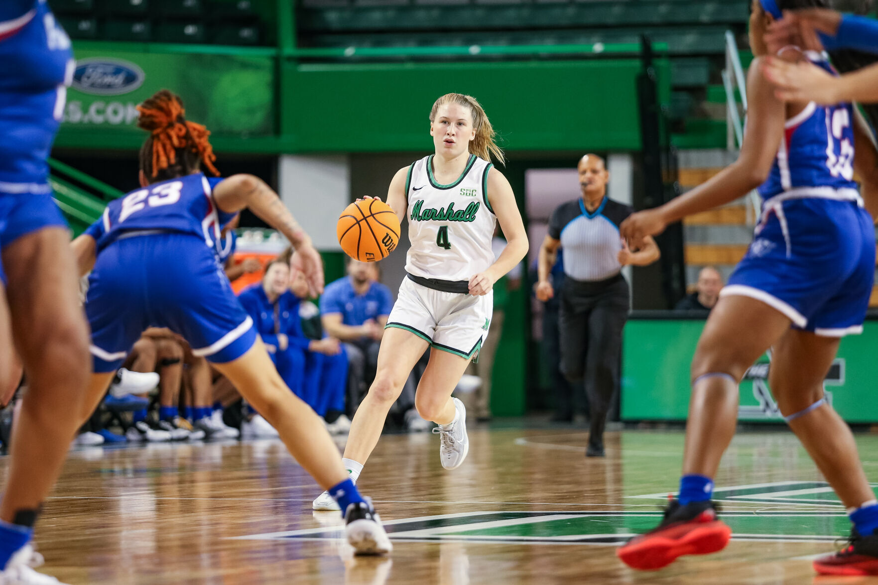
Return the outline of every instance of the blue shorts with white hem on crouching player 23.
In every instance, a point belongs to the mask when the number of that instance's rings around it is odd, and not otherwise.
[[[149,327],[174,331],[196,356],[220,364],[256,340],[253,320],[197,235],[123,235],[107,246],[91,271],[85,314],[95,372],[117,370]]]

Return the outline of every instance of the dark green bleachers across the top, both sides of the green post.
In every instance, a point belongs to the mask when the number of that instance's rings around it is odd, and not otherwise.
[[[646,34],[653,42],[664,43],[671,57],[673,96],[666,113],[673,132],[706,133],[711,144],[719,140],[722,133],[717,128],[724,121],[706,88],[721,83],[724,33],[730,30],[744,42],[749,15],[748,0],[51,0],[51,4],[74,40],[240,46],[277,45],[284,25],[283,18],[275,17],[285,10],[292,14],[292,26],[285,37],[289,40],[280,44],[311,49],[310,54],[297,54],[301,61],[460,59],[459,54],[428,51],[356,53],[369,48],[597,43],[636,47]],[[322,49],[346,51],[344,56],[318,56]],[[588,58],[600,58],[598,53]],[[560,58],[570,56],[575,55]],[[471,58],[516,57],[485,51]]]

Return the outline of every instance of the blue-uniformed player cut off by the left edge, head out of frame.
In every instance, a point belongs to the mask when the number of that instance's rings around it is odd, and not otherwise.
[[[57,583],[32,570],[29,545],[83,419],[88,329],[67,224],[52,200],[47,156],[73,76],[70,40],[45,1],[0,2],[0,377],[12,338],[29,391],[13,430],[0,503],[0,583]],[[2,276],[2,272],[0,272]],[[8,306],[7,306],[8,303]],[[11,329],[10,329],[11,323]],[[10,387],[18,380],[0,380]]]

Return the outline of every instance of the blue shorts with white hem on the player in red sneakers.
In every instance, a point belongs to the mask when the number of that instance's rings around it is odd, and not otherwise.
[[[856,202],[788,199],[764,214],[721,297],[761,300],[795,329],[861,333],[875,270],[872,217]]]

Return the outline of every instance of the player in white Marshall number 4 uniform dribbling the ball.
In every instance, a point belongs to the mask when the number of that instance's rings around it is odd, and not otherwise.
[[[430,359],[415,393],[418,413],[439,426],[439,456],[445,469],[464,462],[469,451],[464,404],[451,398],[470,360],[491,328],[493,284],[528,252],[528,235],[506,177],[493,128],[479,102],[449,93],[430,112],[435,155],[400,169],[387,192],[399,218],[408,218],[407,278],[387,319],[378,372],[351,423],[344,464],[356,481],[418,358]],[[507,247],[494,260],[496,221]],[[314,509],[338,509],[324,492]]]

